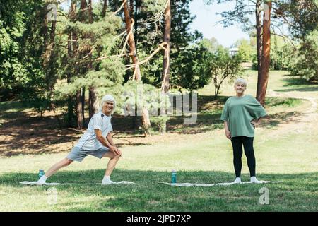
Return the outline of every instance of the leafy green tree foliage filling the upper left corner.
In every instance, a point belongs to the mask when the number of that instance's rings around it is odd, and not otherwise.
[[[20,90],[35,79],[40,67],[39,54],[25,54],[28,29],[41,1],[1,1],[0,7],[0,88]],[[33,81],[34,83],[34,81]]]

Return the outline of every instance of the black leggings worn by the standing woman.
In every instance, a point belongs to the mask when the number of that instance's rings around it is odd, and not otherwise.
[[[233,163],[236,177],[241,177],[242,169],[242,145],[244,146],[244,152],[247,157],[247,165],[249,167],[249,174],[251,177],[255,177],[255,156],[253,148],[254,137],[247,136],[235,136],[231,138],[233,147]]]

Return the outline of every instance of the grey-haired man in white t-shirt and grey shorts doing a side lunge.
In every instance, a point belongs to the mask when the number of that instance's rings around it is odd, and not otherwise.
[[[110,174],[117,164],[122,152],[114,145],[112,140],[111,115],[116,107],[116,101],[112,95],[102,97],[100,112],[95,113],[88,123],[87,131],[81,136],[69,155],[53,165],[45,175],[40,177],[37,184],[45,184],[47,178],[56,173],[62,167],[70,165],[73,161],[81,162],[86,156],[93,155],[98,158],[110,158],[102,184],[112,184]]]

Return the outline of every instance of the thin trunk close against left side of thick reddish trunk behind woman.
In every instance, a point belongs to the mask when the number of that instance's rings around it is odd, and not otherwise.
[[[262,39],[261,39],[261,0],[256,3],[256,30],[257,30],[257,79],[261,81],[261,54],[262,54]],[[257,96],[260,91],[260,84],[257,83]]]

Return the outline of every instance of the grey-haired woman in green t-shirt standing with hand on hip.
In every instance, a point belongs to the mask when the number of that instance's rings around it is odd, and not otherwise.
[[[252,183],[259,183],[255,173],[254,129],[260,118],[266,116],[264,107],[252,95],[245,95],[247,81],[238,78],[234,89],[236,95],[226,100],[220,120],[224,121],[225,136],[232,142],[233,163],[236,179],[234,184],[241,183],[242,147],[247,157],[247,165]]]

